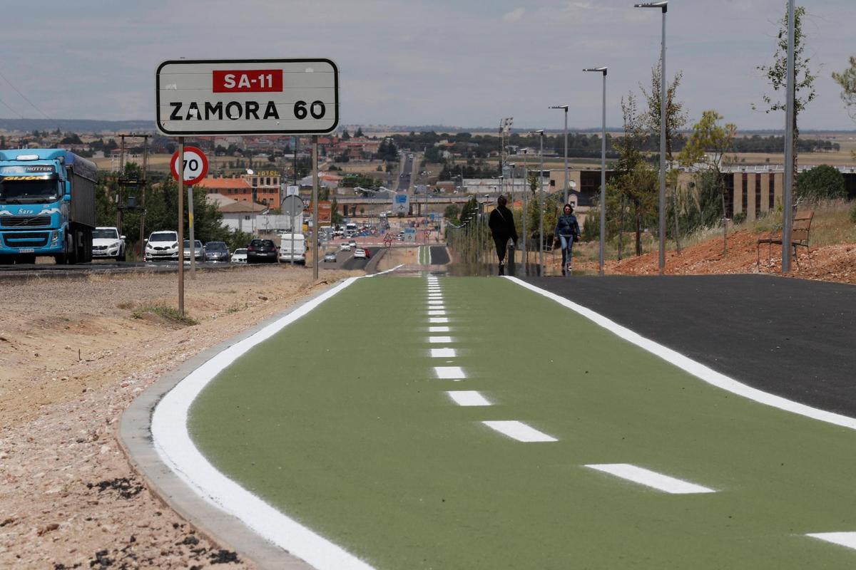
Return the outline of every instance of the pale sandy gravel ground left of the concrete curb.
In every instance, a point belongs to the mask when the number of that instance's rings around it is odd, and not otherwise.
[[[175,307],[175,275],[0,282],[0,567],[252,567],[152,495],[118,420],[181,361],[348,274],[200,272],[186,282],[192,326],[146,310]]]

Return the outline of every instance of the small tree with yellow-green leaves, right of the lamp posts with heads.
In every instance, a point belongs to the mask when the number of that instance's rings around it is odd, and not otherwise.
[[[693,133],[690,135],[687,145],[681,150],[678,160],[685,167],[700,167],[702,175],[696,178],[696,187],[699,193],[699,210],[701,211],[702,223],[710,222],[713,214],[710,212],[710,203],[705,197],[710,196],[710,190],[719,190],[722,197],[722,257],[728,251],[728,224],[725,221],[725,182],[722,179],[722,162],[726,154],[734,144],[734,136],[737,126],[728,123],[725,126],[719,124],[722,115],[716,111],[704,111],[698,123],[693,125]],[[706,225],[706,224],[705,224]]]

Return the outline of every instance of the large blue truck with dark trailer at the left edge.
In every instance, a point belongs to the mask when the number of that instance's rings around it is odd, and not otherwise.
[[[92,261],[97,177],[68,150],[0,150],[0,263]]]

